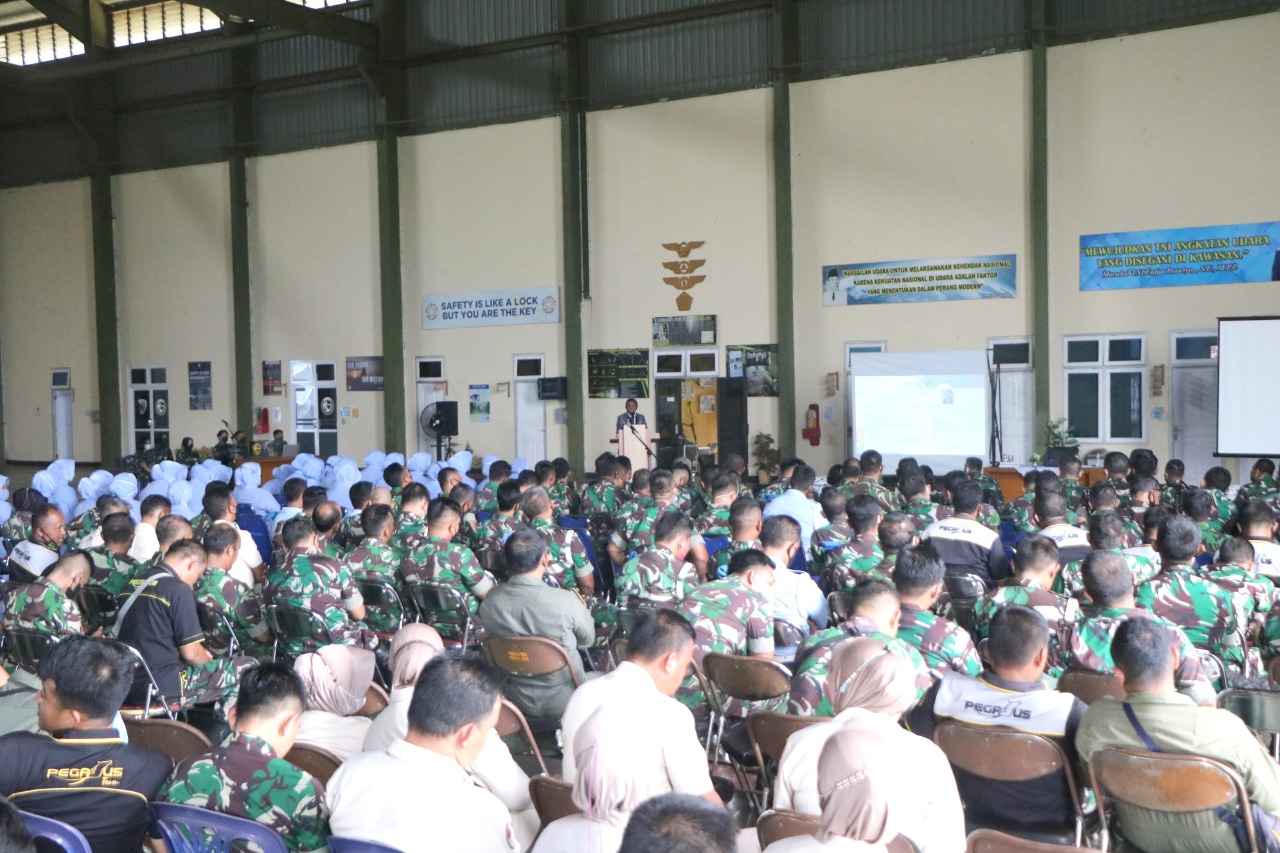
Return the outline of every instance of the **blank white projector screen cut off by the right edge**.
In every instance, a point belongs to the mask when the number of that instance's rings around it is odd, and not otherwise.
[[[1280,364],[1280,316],[1220,318],[1217,321],[1217,452],[1220,456],[1280,453],[1280,397],[1271,370]]]

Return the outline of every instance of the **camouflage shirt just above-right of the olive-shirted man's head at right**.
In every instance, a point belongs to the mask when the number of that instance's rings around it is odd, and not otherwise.
[[[1196,648],[1207,648],[1229,663],[1244,662],[1239,647],[1224,653],[1235,633],[1231,596],[1188,566],[1165,566],[1158,575],[1138,587],[1135,599],[1139,607],[1187,631]]]

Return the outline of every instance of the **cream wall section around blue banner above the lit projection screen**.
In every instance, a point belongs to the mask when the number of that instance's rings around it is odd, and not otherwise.
[[[809,403],[836,414],[797,448],[819,473],[846,451],[846,341],[913,352],[1028,333],[1029,85],[1029,55],[1006,54],[792,87],[797,437]],[[1018,255],[1016,298],[822,306],[823,265],[996,254]]]

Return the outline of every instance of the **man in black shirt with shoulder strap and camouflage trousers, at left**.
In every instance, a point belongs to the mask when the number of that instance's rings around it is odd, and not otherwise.
[[[205,648],[193,587],[207,556],[195,539],[169,546],[164,560],[120,606],[116,635],[142,654],[166,702],[183,707],[215,702],[225,716],[227,707],[236,703],[237,672],[253,661],[214,657]],[[140,706],[146,694],[147,675],[138,667],[128,702]]]

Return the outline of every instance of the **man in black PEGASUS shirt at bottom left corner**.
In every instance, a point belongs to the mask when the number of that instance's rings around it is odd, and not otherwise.
[[[93,853],[137,853],[173,763],[111,729],[133,674],[119,643],[69,637],[40,662],[40,727],[0,738],[0,794],[70,824]]]

